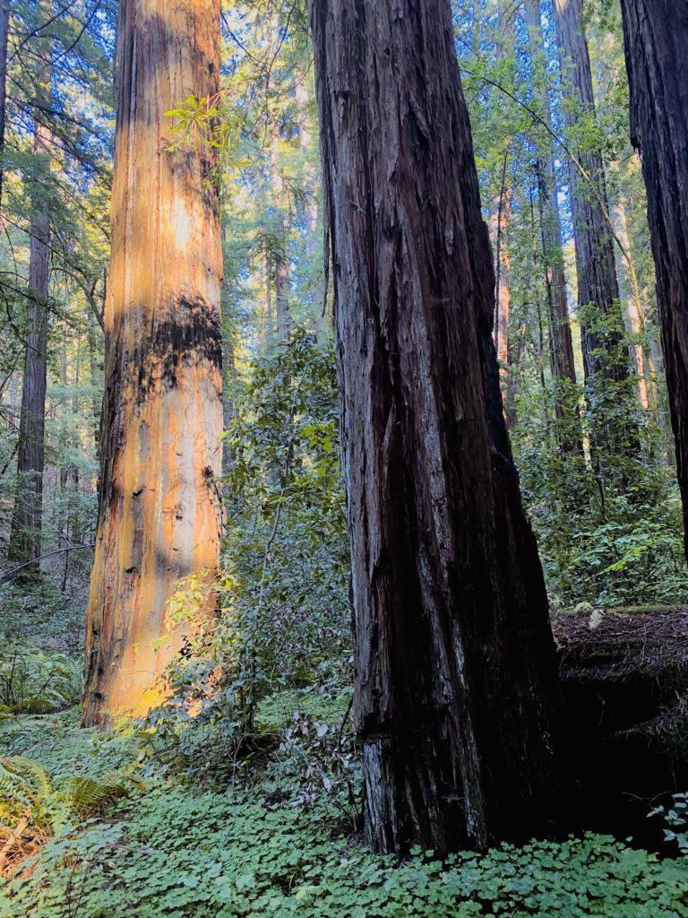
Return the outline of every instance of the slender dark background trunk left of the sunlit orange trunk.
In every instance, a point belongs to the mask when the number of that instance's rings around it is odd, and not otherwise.
[[[50,84],[43,73],[40,84]],[[50,91],[39,95],[50,105]],[[50,168],[52,132],[38,113],[34,128],[34,156]],[[36,183],[31,216],[28,254],[27,352],[22,375],[19,444],[17,450],[17,497],[12,514],[7,557],[17,565],[40,556],[45,466],[45,398],[48,352],[48,295],[50,273],[50,210],[46,191]],[[28,574],[36,573],[28,568]]]

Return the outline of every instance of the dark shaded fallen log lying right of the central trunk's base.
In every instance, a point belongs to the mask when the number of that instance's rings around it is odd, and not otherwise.
[[[647,813],[688,789],[688,609],[586,609],[553,631],[582,827],[661,849]]]

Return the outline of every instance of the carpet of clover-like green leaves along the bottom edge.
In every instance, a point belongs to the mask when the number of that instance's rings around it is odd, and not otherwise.
[[[126,820],[126,821],[125,821]],[[113,856],[117,852],[117,856]],[[6,887],[19,918],[685,918],[688,870],[613,839],[508,845],[402,864],[351,844],[327,805],[160,789],[70,829]],[[78,910],[77,910],[78,903]]]

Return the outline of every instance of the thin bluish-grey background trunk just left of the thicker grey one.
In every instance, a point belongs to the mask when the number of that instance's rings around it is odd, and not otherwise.
[[[546,124],[551,124],[548,73],[545,63],[545,42],[542,35],[539,0],[526,0],[526,23],[533,72],[533,93]],[[545,268],[545,289],[549,318],[549,363],[552,376],[558,382],[576,382],[571,319],[566,296],[564,259],[561,250],[561,222],[557,200],[557,174],[554,150],[549,134],[538,141],[538,196],[540,207],[540,237]],[[557,413],[564,410],[558,399]]]

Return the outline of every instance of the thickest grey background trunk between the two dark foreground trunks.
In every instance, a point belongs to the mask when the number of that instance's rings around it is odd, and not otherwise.
[[[554,0],[554,18],[560,45],[564,118],[571,128],[577,120],[573,106],[584,113],[594,114],[593,77],[583,25],[583,0]],[[622,381],[628,376],[628,362],[620,347],[623,319],[614,245],[606,216],[609,207],[605,171],[597,151],[583,151],[578,158],[590,179],[586,181],[576,165],[570,163],[571,215],[585,377],[591,379],[603,372],[606,377]],[[591,308],[594,308],[593,315],[589,315]],[[599,324],[594,319],[595,315],[604,317],[607,326],[604,330],[595,328]]]

